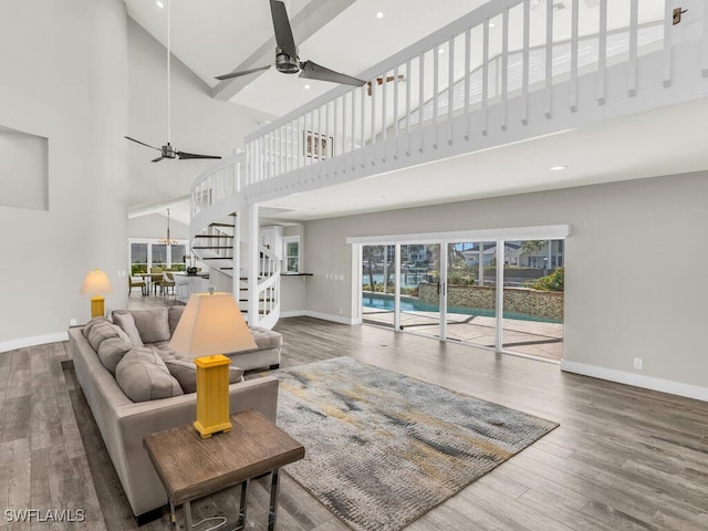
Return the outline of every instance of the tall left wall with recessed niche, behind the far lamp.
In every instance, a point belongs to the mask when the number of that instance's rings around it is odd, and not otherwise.
[[[49,138],[49,209],[0,206],[0,351],[65,335],[105,270],[124,304],[127,43],[121,0],[2,3],[0,124]]]

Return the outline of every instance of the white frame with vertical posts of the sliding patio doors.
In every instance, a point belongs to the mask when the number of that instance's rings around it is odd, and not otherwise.
[[[519,227],[507,229],[482,229],[452,232],[428,232],[428,233],[408,233],[395,236],[372,236],[372,237],[352,237],[346,239],[346,243],[352,246],[352,323],[362,324],[362,248],[363,246],[394,246],[395,248],[395,272],[394,272],[394,332],[404,332],[400,327],[400,246],[408,243],[427,243],[439,244],[440,252],[440,321],[439,321],[439,341],[447,342],[447,246],[459,241],[483,241],[497,243],[497,249],[504,249],[504,242],[509,240],[565,240],[571,235],[570,225],[549,225],[538,227]],[[445,250],[445,252],[442,252]],[[568,248],[565,248],[568,254]],[[501,260],[496,263],[496,333],[494,347],[496,353],[514,354],[517,353],[503,350],[503,275],[504,260],[503,252]],[[410,333],[406,331],[407,333]],[[426,334],[429,336],[429,334]],[[478,346],[478,348],[487,348]]]

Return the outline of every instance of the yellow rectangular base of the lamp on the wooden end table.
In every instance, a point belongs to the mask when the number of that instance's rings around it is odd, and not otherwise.
[[[197,365],[197,420],[194,427],[202,439],[231,430],[229,420],[229,365],[222,354],[201,356]]]

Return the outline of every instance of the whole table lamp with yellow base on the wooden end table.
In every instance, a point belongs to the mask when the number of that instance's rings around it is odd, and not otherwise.
[[[231,293],[192,293],[170,348],[195,358],[197,365],[197,420],[194,426],[202,438],[229,431],[229,364],[220,353],[256,348],[243,315]]]

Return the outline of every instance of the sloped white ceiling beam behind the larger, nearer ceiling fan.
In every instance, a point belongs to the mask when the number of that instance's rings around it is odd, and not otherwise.
[[[300,45],[306,41],[355,1],[356,0],[311,0],[290,20],[295,44]],[[231,72],[266,66],[267,64],[274,63],[274,61],[275,34],[271,32],[270,38],[256,50],[256,52],[242,61],[241,64],[235,66]],[[243,77],[221,81],[211,90],[211,97],[228,102],[262,73],[263,72],[258,72]]]

